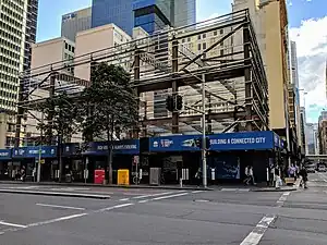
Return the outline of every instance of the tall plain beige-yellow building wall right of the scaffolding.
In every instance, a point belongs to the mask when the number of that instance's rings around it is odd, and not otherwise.
[[[234,0],[233,11],[250,9],[268,79],[270,128],[284,128],[288,114],[288,68],[281,29],[281,2]],[[287,42],[288,44],[288,42]]]

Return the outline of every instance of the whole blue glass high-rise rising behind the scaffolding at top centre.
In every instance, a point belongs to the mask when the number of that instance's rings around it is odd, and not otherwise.
[[[93,0],[92,27],[113,23],[129,35],[134,26],[150,34],[165,25],[195,23],[195,0]]]

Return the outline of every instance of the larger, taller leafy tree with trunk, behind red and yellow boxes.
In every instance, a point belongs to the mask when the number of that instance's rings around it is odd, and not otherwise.
[[[132,130],[138,121],[137,98],[130,81],[130,74],[123,68],[99,63],[93,68],[92,85],[82,95],[84,138],[107,136],[105,171],[109,184],[112,183],[113,134]]]

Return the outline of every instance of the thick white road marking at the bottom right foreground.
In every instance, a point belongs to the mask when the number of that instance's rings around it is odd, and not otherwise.
[[[276,216],[265,216],[240,245],[257,245]]]

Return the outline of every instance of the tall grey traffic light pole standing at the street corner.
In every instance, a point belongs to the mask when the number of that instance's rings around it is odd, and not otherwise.
[[[202,75],[202,173],[203,187],[207,187],[207,158],[206,158],[206,88],[205,74]]]

